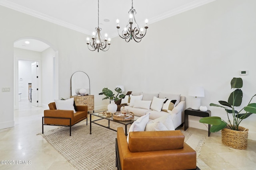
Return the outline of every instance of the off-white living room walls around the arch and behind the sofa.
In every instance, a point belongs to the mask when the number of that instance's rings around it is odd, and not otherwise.
[[[22,37],[40,37],[58,50],[59,98],[70,95],[70,78],[78,70],[90,77],[91,94],[96,109],[108,104],[98,93],[102,88],[122,84],[126,91],[170,92],[186,96],[191,106],[188,88],[203,86],[202,105],[212,115],[226,119],[222,109],[210,107],[211,102],[226,100],[230,80],[239,77],[240,69],[249,70],[243,76],[246,104],[255,92],[256,68],[256,1],[216,0],[149,25],[140,43],[126,43],[112,38],[107,52],[91,52],[82,33],[43,21],[0,6],[0,87],[11,87],[1,93],[0,128],[13,123],[13,43]],[[5,72],[5,73],[3,73]],[[253,100],[256,102],[256,100]],[[2,108],[2,107],[1,107]],[[190,127],[205,128],[198,117],[190,117]],[[256,115],[241,124],[249,129],[249,139],[256,140]]]

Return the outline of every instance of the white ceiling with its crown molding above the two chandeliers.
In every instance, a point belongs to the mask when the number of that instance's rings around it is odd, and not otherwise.
[[[137,23],[143,26],[145,19],[148,19],[150,31],[151,23],[212,1],[214,0],[134,0],[133,7],[137,12]],[[99,3],[101,33],[108,33],[111,38],[116,37],[116,19],[120,20],[122,29],[128,22],[132,1],[100,0]],[[88,35],[92,35],[95,27],[98,27],[97,0],[0,0],[0,5]]]

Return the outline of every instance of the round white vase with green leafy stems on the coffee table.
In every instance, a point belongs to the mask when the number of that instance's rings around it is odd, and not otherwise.
[[[121,98],[123,98],[125,96],[124,94],[121,94],[122,93],[122,89],[121,88],[117,87],[117,88],[115,88],[115,91],[117,92],[116,96],[108,88],[103,88],[102,89],[102,94],[104,94],[106,96],[102,100],[105,100],[105,99],[109,99],[110,100],[110,104],[108,104],[108,111],[110,113],[116,112],[117,105],[115,104],[115,102],[120,100]]]

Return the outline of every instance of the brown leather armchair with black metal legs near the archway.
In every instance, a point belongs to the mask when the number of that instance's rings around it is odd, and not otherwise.
[[[44,133],[44,125],[68,126],[71,136],[71,126],[84,119],[86,119],[87,125],[87,106],[76,106],[76,113],[73,110],[57,110],[55,102],[48,104],[48,106],[50,109],[44,110],[42,117],[42,133]]]

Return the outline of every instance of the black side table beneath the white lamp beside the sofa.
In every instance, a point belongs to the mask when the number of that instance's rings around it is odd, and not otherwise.
[[[184,131],[188,129],[188,115],[192,116],[198,116],[198,117],[210,117],[211,111],[200,111],[200,110],[193,110],[191,108],[188,108],[184,111]],[[211,125],[208,124],[208,137],[210,136],[210,129]]]

